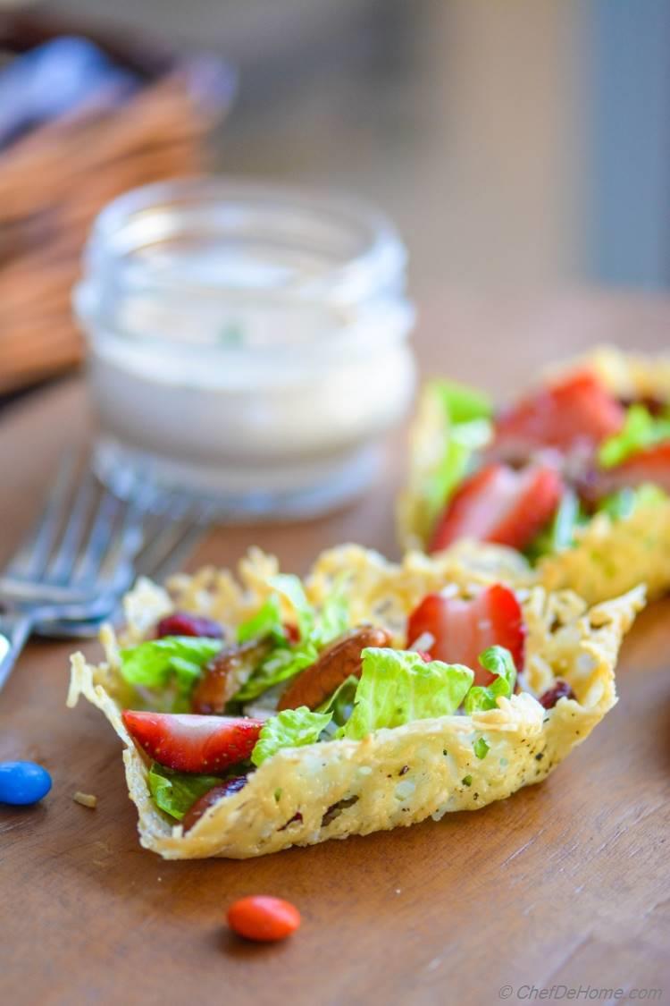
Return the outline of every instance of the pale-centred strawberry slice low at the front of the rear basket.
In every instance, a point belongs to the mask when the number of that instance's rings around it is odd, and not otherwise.
[[[429,551],[459,538],[525,548],[552,517],[563,494],[555,469],[533,465],[515,471],[487,465],[467,479],[438,521]]]

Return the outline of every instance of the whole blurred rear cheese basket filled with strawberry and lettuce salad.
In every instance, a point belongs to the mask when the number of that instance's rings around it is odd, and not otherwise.
[[[670,375],[614,349],[510,405],[448,380],[425,387],[399,506],[408,547],[514,549],[517,575],[595,602],[670,588]],[[502,560],[501,560],[502,561]]]

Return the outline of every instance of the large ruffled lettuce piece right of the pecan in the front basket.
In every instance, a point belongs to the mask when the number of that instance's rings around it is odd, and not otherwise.
[[[411,650],[369,647],[362,657],[354,711],[339,731],[354,740],[381,727],[452,715],[474,676],[469,667],[439,660],[426,663]]]

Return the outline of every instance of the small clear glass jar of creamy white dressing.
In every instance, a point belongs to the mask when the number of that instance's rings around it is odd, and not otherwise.
[[[405,265],[393,226],[354,199],[225,178],[116,199],[74,294],[98,473],[223,517],[355,497],[414,391]]]

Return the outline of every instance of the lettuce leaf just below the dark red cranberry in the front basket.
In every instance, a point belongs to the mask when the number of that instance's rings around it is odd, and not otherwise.
[[[136,688],[176,687],[178,697],[190,694],[208,661],[222,647],[220,639],[166,636],[121,651],[121,673]]]

